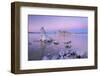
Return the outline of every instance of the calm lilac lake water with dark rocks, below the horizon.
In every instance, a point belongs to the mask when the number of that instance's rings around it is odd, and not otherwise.
[[[28,60],[58,60],[88,57],[87,34],[71,34],[68,36],[48,34],[58,44],[54,44],[54,41],[40,41],[40,34],[28,33],[28,35]],[[66,44],[65,42],[69,43]]]

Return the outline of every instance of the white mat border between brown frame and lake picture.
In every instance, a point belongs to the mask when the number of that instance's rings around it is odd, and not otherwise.
[[[88,59],[28,61],[28,14],[88,17]],[[51,9],[39,7],[20,8],[20,69],[43,69],[94,65],[94,11]]]

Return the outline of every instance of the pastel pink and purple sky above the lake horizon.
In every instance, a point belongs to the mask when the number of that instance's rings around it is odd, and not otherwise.
[[[88,29],[88,17],[29,15],[28,32],[65,30],[69,32],[85,32]]]

